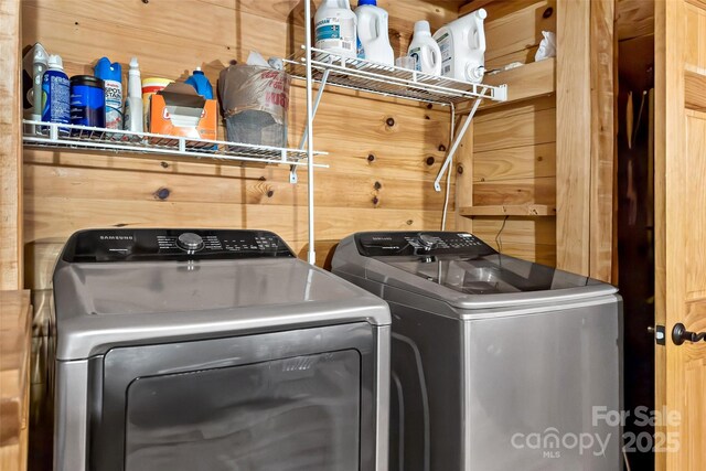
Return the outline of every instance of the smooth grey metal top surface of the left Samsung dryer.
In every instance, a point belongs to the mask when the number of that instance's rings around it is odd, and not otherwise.
[[[65,255],[54,272],[60,360],[118,344],[391,323],[379,298],[291,256],[71,263]]]

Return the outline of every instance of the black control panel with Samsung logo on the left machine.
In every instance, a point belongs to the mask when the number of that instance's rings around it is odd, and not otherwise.
[[[68,239],[67,263],[200,260],[290,257],[295,254],[267,231],[88,229]]]

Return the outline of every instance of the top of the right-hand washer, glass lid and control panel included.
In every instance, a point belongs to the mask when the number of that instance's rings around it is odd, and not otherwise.
[[[588,277],[501,255],[468,233],[361,233],[354,238],[359,254],[371,260],[366,278],[460,309],[617,292]]]

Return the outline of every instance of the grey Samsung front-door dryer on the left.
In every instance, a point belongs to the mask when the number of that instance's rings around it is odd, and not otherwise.
[[[387,304],[277,235],[81,232],[54,292],[56,471],[387,469]]]

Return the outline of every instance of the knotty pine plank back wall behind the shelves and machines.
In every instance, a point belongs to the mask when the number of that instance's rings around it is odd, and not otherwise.
[[[406,50],[415,20],[438,28],[456,18],[458,3],[449,3],[381,1],[391,12],[396,54]],[[23,44],[40,41],[61,54],[69,76],[90,73],[103,55],[122,64],[137,55],[142,77],[183,78],[201,65],[215,84],[225,64],[244,61],[250,50],[284,56],[303,42],[299,0],[24,0],[22,13]],[[327,93],[314,127],[315,147],[330,152],[320,161],[331,165],[317,173],[321,265],[351,232],[440,224],[442,195],[431,181],[443,157],[439,149],[448,146],[447,110],[350,95]],[[303,96],[303,87],[292,88],[290,144],[302,131]],[[33,288],[46,287],[57,246],[84,227],[260,227],[306,253],[306,172],[299,185],[290,185],[285,168],[33,150],[24,158],[24,244]],[[158,196],[161,189],[165,199]]]

